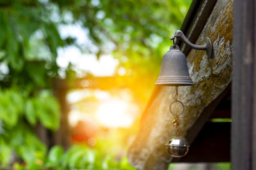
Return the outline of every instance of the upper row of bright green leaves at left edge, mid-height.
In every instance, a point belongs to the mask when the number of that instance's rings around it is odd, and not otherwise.
[[[60,106],[49,92],[41,92],[36,97],[26,93],[20,94],[18,89],[0,91],[0,119],[4,128],[17,126],[19,118],[24,116],[29,124],[35,125],[39,120],[48,129],[59,127]]]

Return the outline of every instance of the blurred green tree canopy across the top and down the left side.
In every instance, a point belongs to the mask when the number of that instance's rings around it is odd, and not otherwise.
[[[1,165],[8,166],[14,153],[26,162],[27,169],[56,166],[52,154],[57,154],[58,159],[61,149],[54,148],[49,153],[50,160],[45,159],[47,148],[33,129],[38,122],[50,130],[59,127],[60,106],[52,95],[52,79],[60,78],[58,48],[76,45],[97,57],[111,53],[120,61],[118,68],[124,68],[131,76],[131,83],[140,82],[132,90],[147,99],[163,49],[169,46],[163,39],[180,27],[190,3],[191,0],[1,0]],[[77,44],[74,37],[61,38],[60,25],[77,23],[89,32],[96,51]],[[109,45],[113,46],[111,51]],[[66,73],[67,78],[74,76],[72,67],[67,67]]]

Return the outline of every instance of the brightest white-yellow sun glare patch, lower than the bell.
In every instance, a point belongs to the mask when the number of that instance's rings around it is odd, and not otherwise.
[[[68,122],[72,127],[79,121],[108,128],[130,127],[140,111],[129,91],[125,90],[114,96],[102,90],[76,90],[70,92],[67,99],[71,104]]]

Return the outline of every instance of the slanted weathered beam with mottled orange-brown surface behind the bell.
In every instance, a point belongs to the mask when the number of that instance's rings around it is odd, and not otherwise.
[[[231,81],[232,74],[232,0],[217,1],[196,44],[204,44],[208,36],[214,46],[214,57],[205,51],[191,50],[187,57],[189,74],[195,85],[179,87],[179,100],[185,105],[180,115],[180,134],[195,124],[198,117]],[[128,152],[128,159],[138,169],[167,169],[172,161],[164,144],[175,135],[173,116],[168,108],[175,87],[159,87],[156,97],[141,118],[141,127]],[[189,141],[191,142],[191,141]],[[189,153],[188,153],[189,154]]]

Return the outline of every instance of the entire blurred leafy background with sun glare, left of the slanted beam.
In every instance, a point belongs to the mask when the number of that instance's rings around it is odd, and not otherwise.
[[[134,169],[125,153],[190,4],[1,0],[1,169]]]

